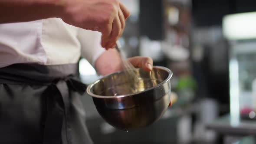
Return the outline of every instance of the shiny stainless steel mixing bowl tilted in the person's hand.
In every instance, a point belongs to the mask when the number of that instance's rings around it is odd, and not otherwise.
[[[151,72],[143,69],[134,72],[137,81],[121,71],[107,75],[87,88],[102,118],[124,131],[158,121],[171,101],[171,70],[154,66]]]

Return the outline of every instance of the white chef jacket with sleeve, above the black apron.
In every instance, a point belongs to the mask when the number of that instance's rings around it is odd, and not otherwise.
[[[70,64],[81,55],[94,65],[105,51],[100,40],[101,33],[71,26],[60,18],[0,24],[0,68],[16,63]]]

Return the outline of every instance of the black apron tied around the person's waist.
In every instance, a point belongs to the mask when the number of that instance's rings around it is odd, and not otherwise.
[[[0,68],[0,144],[92,144],[76,64]]]

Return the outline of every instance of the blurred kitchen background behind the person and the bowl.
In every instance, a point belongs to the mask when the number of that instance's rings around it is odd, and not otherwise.
[[[160,121],[126,133],[85,95],[95,144],[256,144],[256,0],[121,1],[131,11],[123,49],[174,72],[174,104]],[[85,59],[79,72],[86,84],[100,77]]]

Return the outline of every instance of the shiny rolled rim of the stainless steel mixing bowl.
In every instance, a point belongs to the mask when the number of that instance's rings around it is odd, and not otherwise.
[[[138,68],[140,69],[140,68]],[[109,75],[114,75],[114,74],[118,74],[118,73],[121,73],[122,71],[118,71],[118,72],[113,72],[111,74],[108,74],[108,75],[105,75],[103,76],[102,78],[96,80],[95,82],[92,82],[91,84],[88,85],[88,87],[86,88],[86,92],[91,96],[91,97],[94,97],[94,98],[124,98],[124,97],[128,97],[128,96],[132,96],[132,95],[137,95],[137,94],[140,94],[140,93],[143,93],[143,92],[147,92],[147,91],[150,91],[154,88],[158,88],[159,86],[163,85],[164,83],[166,83],[167,81],[169,81],[173,75],[173,72],[166,68],[166,67],[163,67],[163,66],[153,66],[153,69],[162,69],[162,70],[165,70],[168,72],[168,77],[161,83],[159,83],[158,85],[155,85],[151,88],[148,88],[144,91],[141,91],[141,92],[135,92],[135,93],[132,93],[132,94],[126,94],[126,95],[114,95],[114,96],[105,96],[105,95],[95,95],[94,93],[91,92],[91,89],[92,87],[97,84],[101,79],[104,79],[106,77],[108,77]]]

